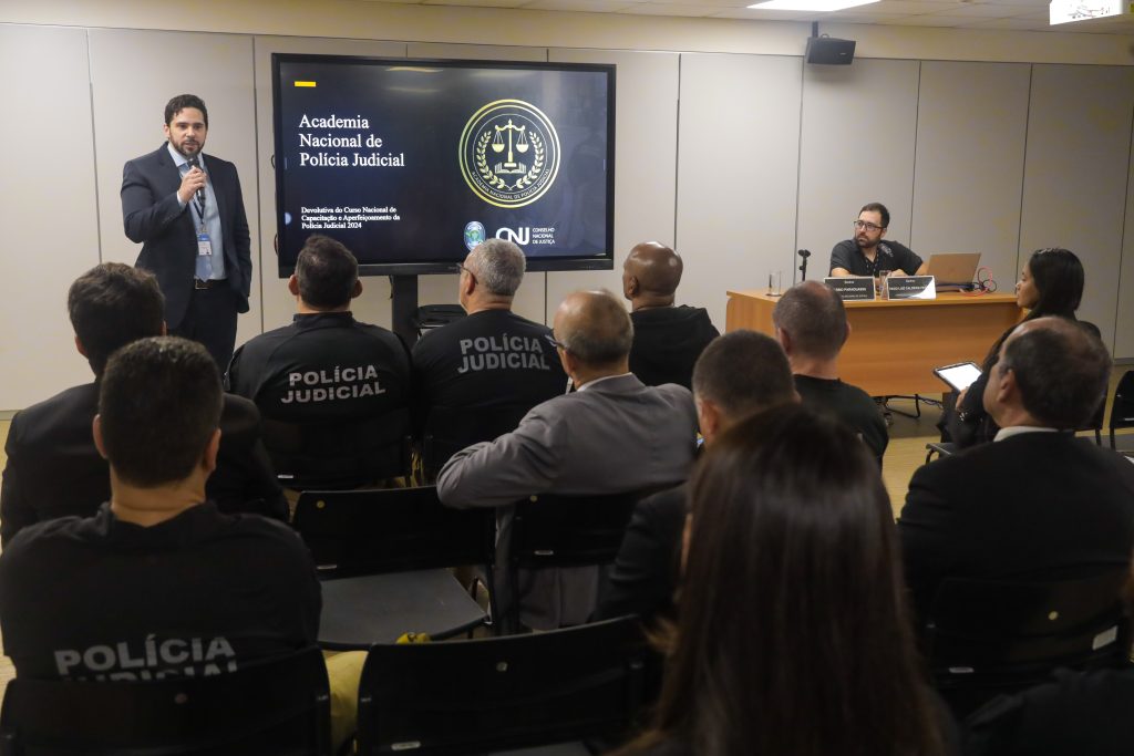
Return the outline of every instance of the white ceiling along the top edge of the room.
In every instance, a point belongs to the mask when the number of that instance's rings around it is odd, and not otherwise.
[[[519,10],[566,10],[686,18],[742,18],[750,20],[826,22],[936,26],[955,28],[1014,29],[1027,32],[1089,32],[1134,34],[1134,16],[1048,25],[1048,0],[880,0],[869,6],[835,12],[750,10],[756,0],[363,0],[406,6],[475,6]],[[1091,0],[1082,0],[1092,5]]]

